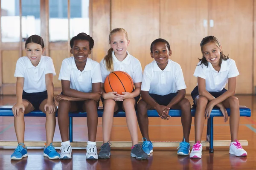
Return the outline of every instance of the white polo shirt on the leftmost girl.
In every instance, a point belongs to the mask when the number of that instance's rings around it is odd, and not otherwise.
[[[51,57],[42,56],[36,67],[26,56],[17,60],[14,77],[24,77],[23,91],[26,93],[46,91],[45,74],[56,75]]]

